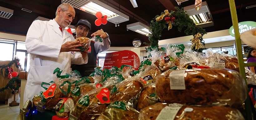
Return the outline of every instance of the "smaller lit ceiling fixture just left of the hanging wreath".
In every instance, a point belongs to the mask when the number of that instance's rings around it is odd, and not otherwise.
[[[126,28],[135,32],[138,32],[142,35],[149,36],[151,32],[149,31],[149,27],[141,22],[135,22],[129,25],[126,25]]]

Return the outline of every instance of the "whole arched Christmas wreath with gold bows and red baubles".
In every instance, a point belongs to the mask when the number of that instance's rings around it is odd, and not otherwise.
[[[177,26],[178,31],[184,31],[186,35],[193,35],[190,41],[192,42],[192,50],[202,52],[202,46],[204,45],[203,35],[207,32],[201,27],[197,27],[193,20],[186,14],[183,8],[175,7],[176,11],[165,10],[161,15],[156,15],[155,19],[150,22],[149,41],[150,47],[158,48],[158,41],[163,29],[166,29],[168,24],[168,30],[172,26]],[[144,43],[146,44],[146,43]]]

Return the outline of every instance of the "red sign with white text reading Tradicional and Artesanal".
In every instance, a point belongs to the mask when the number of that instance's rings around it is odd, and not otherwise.
[[[135,70],[138,70],[140,59],[135,52],[130,50],[122,50],[106,54],[104,69],[109,69],[113,66],[120,68],[122,65],[131,65]]]

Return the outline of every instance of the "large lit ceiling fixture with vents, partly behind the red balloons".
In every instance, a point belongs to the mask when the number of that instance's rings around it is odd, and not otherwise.
[[[95,15],[96,12],[101,12],[102,15],[107,15],[107,21],[114,24],[119,24],[129,20],[129,16],[99,0],[62,0],[62,2],[70,3],[73,7],[92,15]]]

